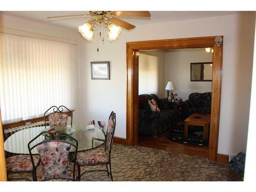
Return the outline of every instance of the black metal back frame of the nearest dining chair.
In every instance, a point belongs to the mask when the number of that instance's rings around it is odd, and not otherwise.
[[[38,137],[40,136],[45,136],[45,139],[44,141],[42,142],[39,142],[33,146],[30,146],[30,144],[35,141]],[[60,138],[61,137],[66,137],[65,140],[61,140]],[[68,138],[68,139],[67,139]],[[73,142],[69,142],[67,140],[73,140]],[[32,155],[32,150],[37,147],[38,145],[41,145],[43,143],[47,143],[47,142],[53,142],[53,141],[56,141],[56,142],[62,142],[62,143],[67,143],[70,145],[69,147],[69,150],[71,148],[71,146],[73,146],[75,148],[75,151],[72,152],[72,161],[74,162],[74,167],[73,167],[73,181],[76,180],[75,178],[75,162],[76,162],[76,156],[77,156],[77,148],[78,148],[78,141],[73,138],[72,136],[70,136],[69,134],[65,133],[65,132],[62,132],[62,131],[56,131],[54,133],[51,133],[51,132],[41,132],[40,134],[38,134],[34,139],[32,139],[29,143],[28,143],[28,149],[29,149],[29,154],[30,154],[30,158],[31,158],[31,161],[32,161],[32,165],[33,165],[33,169],[35,170],[34,173],[35,173],[35,179],[37,178],[36,177],[36,167],[35,167],[35,163],[34,163],[34,160],[33,160],[33,155]],[[56,149],[56,151],[58,151]],[[39,154],[40,155],[40,154]],[[41,157],[40,157],[41,158]],[[58,160],[59,161],[59,160]],[[51,162],[50,162],[51,163]],[[67,170],[68,171],[68,170]],[[68,175],[68,174],[67,174]],[[42,180],[42,181],[48,181],[48,180],[52,180],[52,179],[68,179],[68,180],[72,180],[70,178],[51,178],[51,179],[46,179],[46,180]]]

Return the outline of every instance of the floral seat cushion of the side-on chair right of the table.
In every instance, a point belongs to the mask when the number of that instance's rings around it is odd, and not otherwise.
[[[104,147],[96,148],[95,150],[77,153],[77,164],[96,164],[108,163],[109,153]]]

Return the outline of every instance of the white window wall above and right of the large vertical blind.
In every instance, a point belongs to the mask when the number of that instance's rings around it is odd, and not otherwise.
[[[0,26],[22,30],[27,32],[39,33],[44,35],[50,35],[61,38],[69,38],[73,40],[77,40],[78,32],[73,29],[58,27],[52,24],[47,24],[43,22],[38,22],[33,19],[27,19],[23,17],[16,17],[12,15],[2,14],[0,12]],[[76,47],[76,61],[75,63],[71,63],[74,66],[77,76],[75,76],[76,82],[76,108],[73,114],[73,124],[79,124],[80,122],[80,87],[79,87],[79,66],[78,66],[78,54],[77,54],[77,46]]]

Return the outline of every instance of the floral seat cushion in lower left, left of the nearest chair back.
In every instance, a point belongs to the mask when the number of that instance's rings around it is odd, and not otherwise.
[[[35,166],[39,163],[39,156],[33,156]],[[15,155],[6,159],[8,173],[32,172],[33,165],[30,155]]]

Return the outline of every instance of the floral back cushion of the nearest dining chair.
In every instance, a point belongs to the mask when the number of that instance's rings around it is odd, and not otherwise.
[[[37,146],[42,164],[42,180],[68,178],[68,156],[71,145],[49,141]]]

